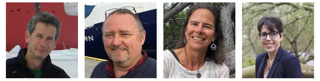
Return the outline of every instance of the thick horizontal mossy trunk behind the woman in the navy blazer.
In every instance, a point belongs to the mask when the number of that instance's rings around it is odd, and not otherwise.
[[[314,66],[301,65],[302,78],[314,78]],[[255,65],[242,68],[242,78],[256,78]]]

